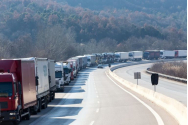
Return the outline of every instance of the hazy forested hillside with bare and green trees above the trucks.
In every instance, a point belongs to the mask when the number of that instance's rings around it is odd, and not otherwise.
[[[2,0],[0,58],[186,49],[181,0]]]

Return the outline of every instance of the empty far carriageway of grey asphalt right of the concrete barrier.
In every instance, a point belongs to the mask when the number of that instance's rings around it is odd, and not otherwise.
[[[154,87],[151,85],[151,75],[145,73],[145,70],[151,65],[152,63],[128,66],[116,69],[114,72],[118,76],[134,84],[137,84],[137,80],[134,79],[134,72],[141,72],[141,79],[138,80],[138,84],[140,86],[154,90]],[[168,80],[165,78],[159,78],[156,91],[187,105],[187,85],[184,83]]]

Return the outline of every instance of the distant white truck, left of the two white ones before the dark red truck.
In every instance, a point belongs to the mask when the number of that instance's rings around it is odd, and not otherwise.
[[[116,62],[127,62],[127,60],[129,60],[129,53],[128,52],[115,52],[114,60]]]

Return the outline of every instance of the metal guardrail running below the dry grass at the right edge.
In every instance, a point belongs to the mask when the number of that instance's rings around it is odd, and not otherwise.
[[[170,75],[165,75],[165,74],[158,73],[158,72],[152,72],[152,71],[149,71],[149,70],[146,70],[146,72],[148,74],[157,73],[157,74],[159,74],[160,77],[164,77],[164,78],[175,80],[175,81],[180,81],[180,82],[183,82],[183,83],[187,84],[187,79],[183,79],[183,78],[179,78],[179,77],[174,77],[174,76],[170,76]]]

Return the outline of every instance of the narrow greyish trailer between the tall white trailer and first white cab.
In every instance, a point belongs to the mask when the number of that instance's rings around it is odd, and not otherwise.
[[[49,72],[49,87],[50,87],[50,97],[49,101],[54,100],[55,92],[57,91],[56,83],[55,83],[55,62],[54,60],[48,59],[48,72]]]

